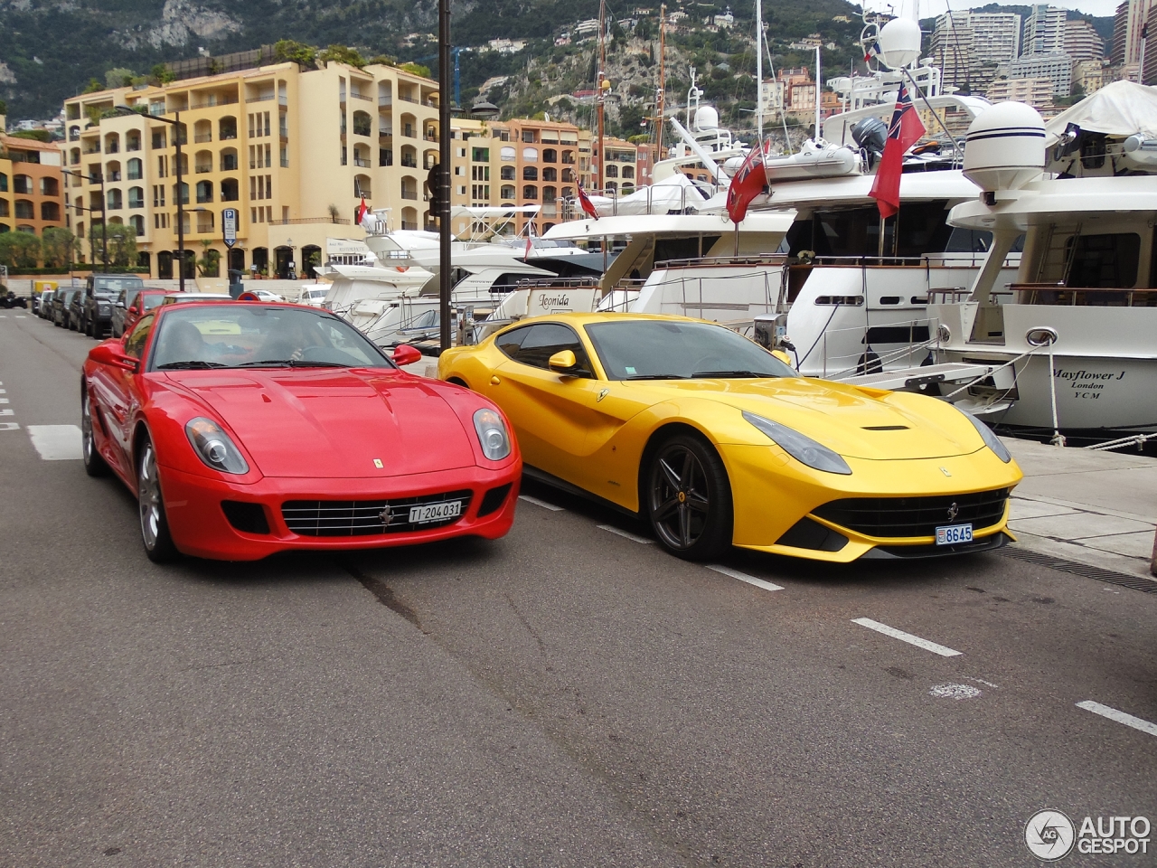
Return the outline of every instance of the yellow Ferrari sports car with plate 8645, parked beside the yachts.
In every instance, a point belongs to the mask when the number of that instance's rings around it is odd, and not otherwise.
[[[649,521],[683,558],[730,545],[852,561],[996,549],[1022,473],[924,395],[799,376],[722,325],[558,314],[449,350],[506,412],[525,472]]]

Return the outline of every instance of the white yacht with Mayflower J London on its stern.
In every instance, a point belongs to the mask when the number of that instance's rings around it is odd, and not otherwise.
[[[965,171],[980,190],[950,222],[994,241],[971,292],[929,306],[934,355],[993,374],[942,391],[1057,442],[1157,431],[1157,88],[1110,84],[1047,126],[996,105],[968,133]],[[993,263],[1022,234],[1002,290]]]

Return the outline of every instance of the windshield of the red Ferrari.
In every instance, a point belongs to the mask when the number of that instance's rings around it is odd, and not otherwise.
[[[236,303],[167,307],[150,370],[246,367],[395,365],[361,332],[324,311]]]

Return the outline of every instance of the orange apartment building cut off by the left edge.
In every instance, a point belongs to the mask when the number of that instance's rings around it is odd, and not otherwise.
[[[57,145],[0,133],[0,233],[65,226],[60,161]]]

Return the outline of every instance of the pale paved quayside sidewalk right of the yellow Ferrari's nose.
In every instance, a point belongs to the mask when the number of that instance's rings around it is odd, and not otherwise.
[[[1157,458],[1002,440],[1024,471],[1009,520],[1022,547],[1157,582]]]

